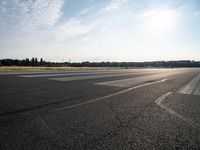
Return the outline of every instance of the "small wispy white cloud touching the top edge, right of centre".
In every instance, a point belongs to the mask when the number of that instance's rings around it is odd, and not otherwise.
[[[119,9],[119,7],[125,4],[127,0],[111,0],[108,5],[106,5],[101,11],[103,12],[114,12]]]

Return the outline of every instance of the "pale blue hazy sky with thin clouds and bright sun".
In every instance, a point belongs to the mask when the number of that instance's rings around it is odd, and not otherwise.
[[[200,0],[0,0],[0,58],[200,59]]]

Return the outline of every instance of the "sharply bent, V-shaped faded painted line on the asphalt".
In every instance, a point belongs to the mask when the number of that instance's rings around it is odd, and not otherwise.
[[[166,107],[164,104],[162,104],[162,101],[165,100],[168,96],[172,95],[172,92],[168,92],[164,95],[162,95],[161,97],[159,97],[155,103],[160,106],[162,109],[164,109],[165,111],[167,111],[168,113],[174,115],[175,117],[179,118],[180,120],[192,125],[193,127],[200,127],[199,124],[197,124],[196,122],[194,122],[193,120],[186,118],[185,116],[178,114],[177,112],[175,112],[174,110]]]

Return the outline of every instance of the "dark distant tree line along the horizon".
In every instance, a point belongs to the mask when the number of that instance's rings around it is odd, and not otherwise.
[[[71,66],[71,67],[200,67],[200,61],[150,61],[150,62],[49,62],[43,58],[1,59],[0,66]]]

